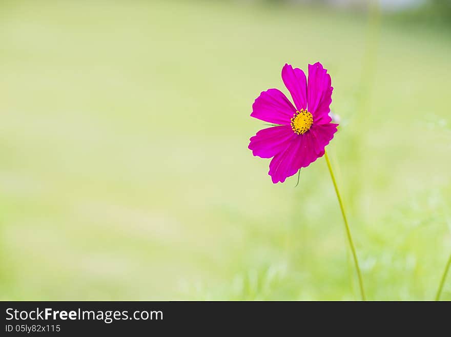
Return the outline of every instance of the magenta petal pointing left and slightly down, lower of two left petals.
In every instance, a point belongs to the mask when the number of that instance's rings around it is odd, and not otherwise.
[[[297,135],[289,125],[274,126],[263,129],[251,137],[249,149],[255,156],[262,158],[271,158],[277,153],[285,150],[290,141]]]

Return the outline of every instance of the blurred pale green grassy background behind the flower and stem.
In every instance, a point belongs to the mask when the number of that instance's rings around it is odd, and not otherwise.
[[[0,299],[359,299],[324,158],[293,188],[247,148],[260,91],[317,61],[367,297],[433,299],[451,29],[424,6],[2,0]]]

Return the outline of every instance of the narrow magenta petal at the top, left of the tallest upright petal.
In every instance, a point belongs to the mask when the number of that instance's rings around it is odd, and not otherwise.
[[[304,72],[299,68],[294,68],[285,64],[282,68],[282,80],[286,89],[293,97],[297,110],[307,108],[307,80]]]

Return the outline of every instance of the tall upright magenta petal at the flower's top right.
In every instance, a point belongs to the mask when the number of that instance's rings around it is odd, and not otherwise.
[[[316,123],[327,123],[332,102],[331,76],[327,74],[321,63],[309,64],[309,79],[307,84],[308,110],[313,114]],[[323,119],[324,118],[324,119]]]

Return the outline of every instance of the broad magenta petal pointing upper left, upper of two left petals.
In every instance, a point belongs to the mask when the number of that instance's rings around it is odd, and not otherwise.
[[[257,97],[251,116],[268,123],[288,125],[295,112],[293,104],[280,90],[269,89]]]

